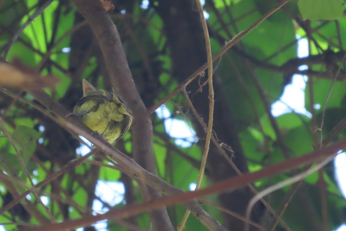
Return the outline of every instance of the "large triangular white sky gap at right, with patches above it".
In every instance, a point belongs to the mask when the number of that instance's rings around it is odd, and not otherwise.
[[[308,51],[308,41],[307,39],[300,38],[299,35],[296,36],[298,49],[298,57],[307,57],[309,55]],[[306,70],[308,67],[306,65],[300,66],[299,70]],[[294,74],[292,77],[292,83],[285,86],[284,92],[280,97],[280,100],[277,100],[272,104],[272,114],[277,117],[285,113],[295,113],[303,114],[311,118],[311,113],[308,112],[305,108],[304,100],[304,90],[308,78],[306,75]],[[319,105],[315,105],[315,108],[319,108]]]

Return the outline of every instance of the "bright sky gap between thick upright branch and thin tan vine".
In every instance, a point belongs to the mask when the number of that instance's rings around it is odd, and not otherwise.
[[[198,141],[195,131],[185,121],[171,118],[171,112],[163,105],[155,110],[157,117],[164,119],[166,133],[175,139],[175,144],[183,148]]]

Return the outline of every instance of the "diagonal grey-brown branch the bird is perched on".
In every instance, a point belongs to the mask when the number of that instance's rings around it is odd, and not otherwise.
[[[30,94],[33,95],[36,100],[38,100],[46,108],[51,110],[51,112],[57,115],[58,117],[65,118],[65,116],[70,113],[62,105],[60,105],[56,100],[54,100],[44,91],[31,91]],[[78,118],[71,117],[69,121],[73,123],[73,125],[70,124],[70,126],[68,126],[64,123],[61,123],[61,125],[65,127],[66,130],[68,131],[79,132],[79,134],[86,137],[89,141],[95,144],[95,146],[100,148],[104,153],[106,153],[108,156],[112,157],[112,159],[116,160],[119,164],[121,164],[122,167],[125,168],[124,170],[126,170],[125,172],[126,174],[129,174],[131,177],[136,177],[137,179],[138,179],[138,176],[143,176],[147,185],[151,186],[152,188],[156,189],[158,192],[164,195],[175,195],[175,194],[181,194],[184,192],[183,190],[168,184],[166,181],[162,180],[161,178],[151,174],[150,172],[140,167],[131,158],[121,153],[119,150],[113,147],[110,143],[104,140],[101,135],[93,133],[93,136],[91,136],[90,134],[92,133],[92,130],[88,126],[83,124]],[[61,122],[61,121],[58,120],[57,122]],[[36,187],[39,188],[48,183],[49,181],[43,181],[41,183],[38,183]],[[14,198],[11,204],[15,205],[16,202],[19,203],[20,200],[24,198],[27,194],[29,194],[29,191]],[[218,221],[213,219],[201,207],[199,202],[192,200],[192,201],[184,202],[182,204],[186,208],[188,208],[191,211],[191,213],[194,214],[197,217],[197,219],[199,219],[201,223],[204,224],[209,230],[227,231]]]

